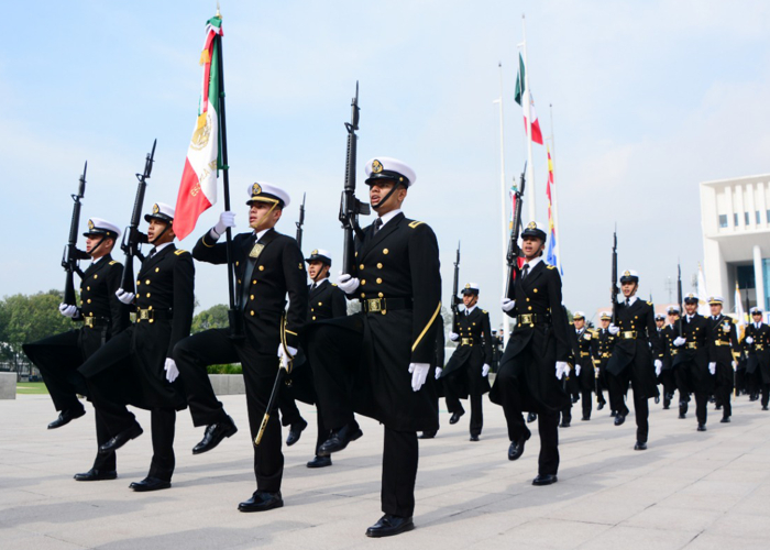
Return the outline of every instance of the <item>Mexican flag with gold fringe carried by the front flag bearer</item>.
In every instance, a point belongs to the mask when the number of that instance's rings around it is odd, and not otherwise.
[[[206,23],[206,42],[200,54],[204,81],[198,105],[198,118],[187,150],[176,199],[174,232],[184,239],[193,232],[198,217],[217,202],[217,176],[222,169],[219,135],[219,41],[222,40],[222,18],[218,14]]]

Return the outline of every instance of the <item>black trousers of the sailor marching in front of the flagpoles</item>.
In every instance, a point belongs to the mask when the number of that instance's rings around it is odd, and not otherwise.
[[[528,346],[519,353],[515,361],[534,361]],[[513,369],[504,369],[497,374],[495,385],[499,384],[499,400],[508,425],[508,439],[513,442],[526,437],[530,431],[524,421],[524,406],[521,404],[521,388],[527,381],[519,380]],[[571,406],[571,404],[570,404]],[[534,410],[538,415],[538,433],[540,436],[540,455],[538,457],[538,473],[540,475],[556,475],[559,471],[559,411],[538,407]]]

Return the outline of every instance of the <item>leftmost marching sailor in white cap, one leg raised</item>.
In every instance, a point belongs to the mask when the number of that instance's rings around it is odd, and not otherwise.
[[[40,369],[51,399],[59,416],[48,429],[61,428],[86,414],[77,394],[88,395],[86,381],[77,369],[112,337],[128,328],[129,308],[116,296],[120,287],[123,266],[112,260],[120,229],[101,218],[88,220],[84,260],[92,258],[82,273],[80,283],[80,307],[74,304],[59,305],[59,312],[81,323],[79,329],[45,338],[22,346],[26,356]],[[97,444],[110,437],[100,415],[96,415]],[[85,473],[75,474],[77,481],[114,480],[114,453],[97,454],[94,466]]]

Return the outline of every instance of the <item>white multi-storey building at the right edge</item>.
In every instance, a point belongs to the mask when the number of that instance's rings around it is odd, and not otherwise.
[[[701,184],[704,275],[735,311],[735,286],[751,307],[770,309],[770,174]]]

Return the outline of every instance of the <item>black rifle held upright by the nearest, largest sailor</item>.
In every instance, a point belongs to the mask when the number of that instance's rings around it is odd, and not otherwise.
[[[359,215],[369,216],[371,210],[367,204],[355,198],[355,154],[359,136],[359,82],[355,82],[355,97],[351,103],[350,122],[345,122],[348,130],[348,156],[345,158],[345,184],[340,201],[340,221],[344,230],[342,246],[342,272],[352,274],[355,266],[355,235],[363,239],[364,232],[359,226]]]

